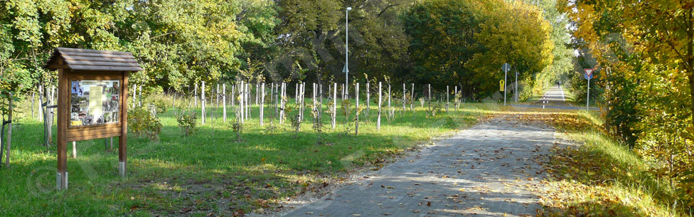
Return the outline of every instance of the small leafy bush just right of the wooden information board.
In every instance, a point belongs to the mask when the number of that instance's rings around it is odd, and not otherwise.
[[[148,110],[137,107],[128,110],[128,127],[137,136],[146,136],[149,139],[159,139],[161,122]]]

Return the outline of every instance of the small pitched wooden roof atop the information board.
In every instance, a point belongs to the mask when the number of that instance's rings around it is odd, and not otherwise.
[[[142,71],[132,53],[77,48],[55,48],[43,68],[90,71]]]

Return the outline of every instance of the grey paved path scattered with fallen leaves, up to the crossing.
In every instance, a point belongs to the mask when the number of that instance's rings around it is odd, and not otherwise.
[[[553,133],[495,117],[285,216],[534,216]]]

